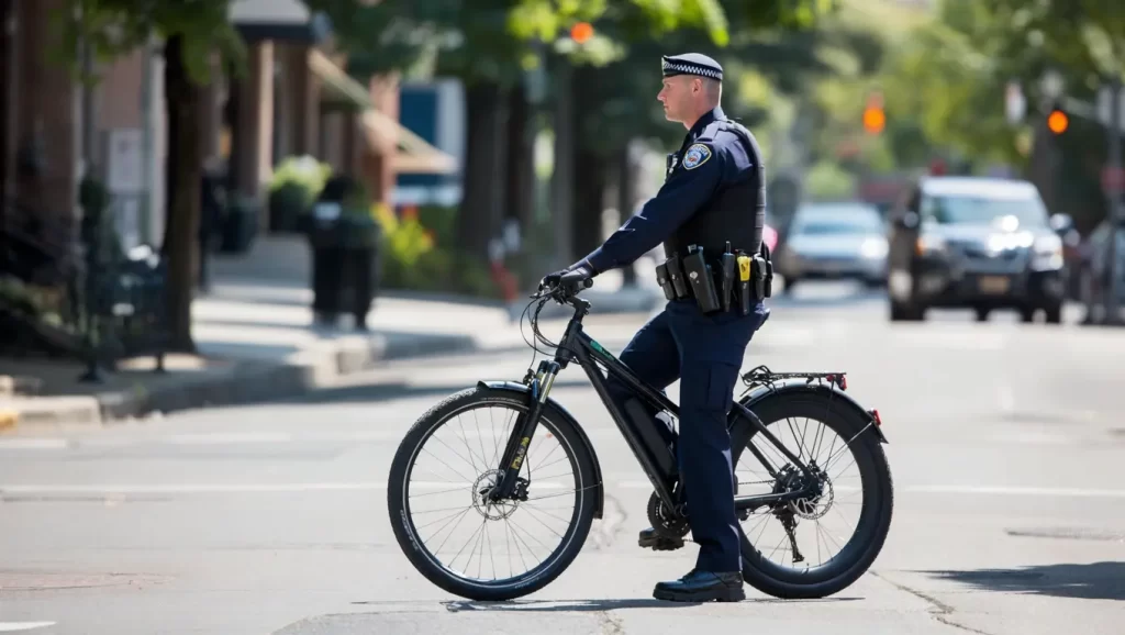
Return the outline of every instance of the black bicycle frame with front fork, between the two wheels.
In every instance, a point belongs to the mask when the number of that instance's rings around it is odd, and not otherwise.
[[[640,463],[641,468],[645,471],[649,482],[652,484],[656,494],[664,502],[666,509],[681,513],[683,509],[683,494],[676,489],[678,474],[676,471],[674,449],[664,445],[664,441],[660,438],[662,435],[657,431],[657,426],[660,426],[662,423],[657,419],[649,417],[647,412],[644,413],[647,421],[634,421],[630,418],[626,412],[628,402],[618,403],[612,396],[609,385],[610,378],[613,377],[620,381],[630,390],[632,396],[638,397],[642,402],[647,402],[646,405],[657,409],[657,412],[660,410],[670,412],[676,417],[677,421],[680,419],[680,409],[662,392],[637,377],[637,375],[628,366],[616,359],[613,355],[605,350],[605,348],[583,331],[582,320],[590,311],[590,303],[587,301],[577,297],[569,297],[566,299],[566,303],[575,307],[574,316],[567,324],[562,340],[558,343],[554,359],[544,359],[540,361],[536,374],[530,375],[529,372],[529,376],[524,379],[524,383],[530,387],[528,404],[529,411],[520,414],[515,421],[512,436],[508,438],[507,446],[498,466],[498,468],[503,471],[503,475],[496,484],[496,488],[493,489],[489,498],[493,501],[501,501],[512,497],[515,491],[520,466],[523,464],[523,458],[526,455],[531,437],[534,435],[536,427],[539,423],[539,415],[542,412],[543,405],[547,403],[547,396],[551,390],[551,385],[560,370],[566,368],[570,361],[577,361],[578,365],[582,366],[583,370],[585,370],[586,376],[590,377],[590,382],[593,384],[594,391],[597,393],[597,396],[601,397],[602,403],[605,405],[610,417],[613,419],[613,422],[624,437],[626,442],[633,453],[633,456]],[[597,367],[597,364],[601,364],[605,368],[605,374],[603,374]],[[781,444],[770,432],[770,430],[766,429],[762,421],[754,415],[753,412],[731,399],[731,418],[739,414],[745,417],[757,430],[757,433],[765,436],[765,438],[768,439],[770,442],[772,442],[790,462],[792,462],[798,469],[806,475],[811,476],[811,472],[808,466],[806,466],[799,457],[794,456],[783,444]],[[675,439],[674,433],[673,439]],[[669,450],[673,453],[670,455],[670,462]],[[766,471],[770,472],[771,476],[776,477],[776,471],[772,468],[770,463],[762,455],[760,450],[758,450],[753,444],[749,445],[749,450],[758,459],[758,462],[762,463]],[[812,483],[813,480],[809,479],[807,482]],[[810,486],[790,492],[741,497],[736,495],[735,508],[737,510],[753,511],[759,507],[774,502],[800,499],[809,493],[811,493]]]

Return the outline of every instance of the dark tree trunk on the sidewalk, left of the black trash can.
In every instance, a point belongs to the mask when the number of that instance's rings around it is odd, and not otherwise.
[[[164,98],[168,106],[168,167],[164,258],[168,259],[166,311],[171,350],[195,352],[191,338],[191,296],[199,240],[199,179],[202,147],[199,88],[183,65],[183,38],[173,35],[164,45]]]

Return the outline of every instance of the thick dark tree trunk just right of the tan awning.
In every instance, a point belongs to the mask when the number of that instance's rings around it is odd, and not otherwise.
[[[504,102],[500,84],[480,81],[466,90],[468,135],[465,194],[457,217],[461,250],[486,260],[488,241],[497,234],[503,213]]]

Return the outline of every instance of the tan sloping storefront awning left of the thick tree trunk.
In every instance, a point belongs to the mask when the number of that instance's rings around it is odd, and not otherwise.
[[[359,110],[360,125],[369,147],[395,147],[395,171],[402,175],[448,175],[457,171],[457,160],[414,134],[394,117],[380,113],[361,83],[320,51],[309,51],[308,68],[320,78],[322,99]]]

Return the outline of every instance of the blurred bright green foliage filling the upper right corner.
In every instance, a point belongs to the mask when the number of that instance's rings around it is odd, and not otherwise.
[[[1029,126],[1042,123],[1042,80],[1054,71],[1068,95],[1090,100],[1125,70],[1125,6],[1101,0],[943,0],[908,33],[883,70],[888,118],[920,140],[978,161],[1027,161]],[[1005,115],[1008,82],[1027,98],[1023,125]],[[921,133],[919,135],[915,133]],[[900,158],[906,158],[900,154]]]

